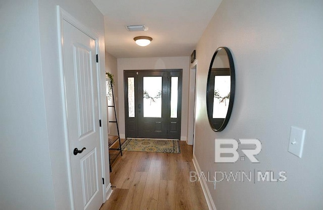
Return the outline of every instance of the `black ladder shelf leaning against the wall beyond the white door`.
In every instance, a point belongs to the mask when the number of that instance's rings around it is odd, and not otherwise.
[[[116,112],[116,103],[115,103],[115,95],[114,95],[114,91],[113,91],[113,84],[110,83],[109,85],[111,85],[111,92],[112,92],[112,99],[113,99],[113,105],[108,105],[108,109],[109,107],[113,107],[114,112],[115,112],[115,119],[116,120],[109,120],[108,122],[110,123],[116,123],[117,125],[117,132],[118,135],[108,135],[108,143],[109,143],[109,162],[110,162],[110,172],[112,171],[111,165],[116,161],[117,157],[119,154],[121,154],[122,156],[122,148],[121,148],[121,139],[120,139],[120,133],[119,133],[119,126],[118,126],[118,119],[117,119],[117,112]],[[109,110],[108,110],[109,112]],[[119,146],[114,146],[116,145],[116,143],[119,143]],[[117,148],[116,148],[117,147]],[[114,151],[114,152],[113,152]],[[118,151],[118,152],[115,152]]]

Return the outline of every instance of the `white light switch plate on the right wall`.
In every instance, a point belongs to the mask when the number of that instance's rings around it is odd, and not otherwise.
[[[305,129],[298,127],[291,127],[291,134],[289,137],[288,152],[302,158],[303,146],[305,139]]]

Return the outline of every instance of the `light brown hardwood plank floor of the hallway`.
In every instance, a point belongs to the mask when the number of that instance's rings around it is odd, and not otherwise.
[[[180,154],[123,152],[112,166],[113,193],[100,210],[207,210],[198,181],[190,182],[193,147]]]

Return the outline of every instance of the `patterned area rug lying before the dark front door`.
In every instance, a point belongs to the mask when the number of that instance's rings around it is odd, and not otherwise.
[[[122,146],[123,151],[181,153],[178,140],[127,138]]]

